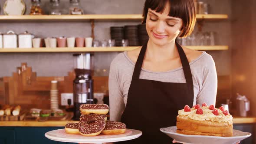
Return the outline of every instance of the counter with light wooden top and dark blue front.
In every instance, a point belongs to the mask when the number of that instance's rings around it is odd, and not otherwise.
[[[0,121],[0,144],[75,144],[49,140],[48,131],[64,128],[68,122],[79,121]],[[256,117],[234,117],[233,128],[253,134]],[[252,137],[244,144],[253,144]],[[243,143],[243,142],[241,142]]]

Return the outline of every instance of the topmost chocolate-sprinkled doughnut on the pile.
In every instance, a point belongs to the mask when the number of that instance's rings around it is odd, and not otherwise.
[[[79,109],[81,114],[88,115],[88,114],[99,114],[99,115],[106,115],[108,113],[108,105],[106,104],[83,104],[80,105]]]

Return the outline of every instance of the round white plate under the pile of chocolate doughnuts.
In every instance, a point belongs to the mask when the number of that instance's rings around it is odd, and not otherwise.
[[[72,142],[72,143],[107,143],[116,141],[128,141],[140,137],[141,131],[126,129],[124,134],[104,135],[99,134],[94,137],[85,137],[81,134],[67,134],[65,129],[48,131],[45,136],[53,141]]]

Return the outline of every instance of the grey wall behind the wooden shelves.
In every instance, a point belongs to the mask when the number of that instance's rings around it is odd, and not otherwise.
[[[49,7],[49,0],[41,0],[43,8]],[[129,2],[128,2],[129,1]],[[202,0],[210,3],[211,13],[228,14],[228,20],[205,22],[203,31],[217,32],[217,45],[229,45],[232,49],[231,33],[231,3],[232,0]],[[3,7],[5,0],[0,0]],[[30,12],[30,0],[26,3],[26,14]],[[61,0],[68,4],[69,0]],[[138,14],[142,13],[144,0],[80,0],[87,14]],[[65,7],[65,6],[63,6]],[[3,10],[1,10],[3,14]],[[95,39],[110,39],[110,26],[124,26],[139,24],[140,21],[96,21]],[[197,28],[196,28],[197,29]],[[83,22],[0,22],[0,32],[6,33],[13,30],[23,33],[25,30],[39,37],[48,36],[90,36],[89,21]],[[231,74],[231,50],[209,51],[216,63],[218,75]],[[109,65],[118,52],[95,53],[95,75],[108,76]],[[32,66],[38,76],[66,76],[72,70],[72,53],[0,53],[0,77],[11,76],[21,62]],[[103,69],[106,69],[103,72]]]

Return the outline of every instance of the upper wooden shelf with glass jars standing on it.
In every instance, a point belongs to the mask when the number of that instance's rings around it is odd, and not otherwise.
[[[197,14],[197,19],[227,19],[226,14]],[[1,21],[36,21],[36,20],[141,20],[141,14],[85,14],[85,15],[0,15]]]

